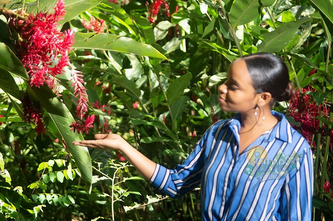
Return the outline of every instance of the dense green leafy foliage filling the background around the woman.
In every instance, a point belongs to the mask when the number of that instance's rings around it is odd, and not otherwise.
[[[308,99],[305,111],[318,107],[309,122],[293,119],[286,102],[275,109],[301,132],[312,127],[314,217],[333,219],[332,0],[170,0],[171,16],[162,7],[153,23],[143,0],[66,0],[59,28],[75,32],[70,61],[83,72],[95,115],[84,135],[70,128],[77,105],[70,70],[57,76],[61,97],[30,87],[4,10],[35,13],[56,2],[0,0],[0,220],[201,220],[198,189],[171,200],[119,153],[88,155],[72,141],[112,131],[154,162],[176,166],[212,122],[232,116],[219,110],[217,86],[234,59],[255,52],[283,57],[300,91],[295,99]],[[104,33],[83,26],[91,17],[105,21]],[[41,107],[45,133],[23,120],[26,93]]]

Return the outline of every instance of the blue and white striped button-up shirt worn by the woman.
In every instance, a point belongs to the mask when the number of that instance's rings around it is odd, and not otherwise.
[[[310,221],[313,158],[307,141],[279,122],[239,154],[240,115],[213,124],[182,165],[157,165],[151,184],[177,198],[201,184],[204,221]]]

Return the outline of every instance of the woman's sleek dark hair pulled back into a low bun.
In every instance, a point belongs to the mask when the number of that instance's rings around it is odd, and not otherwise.
[[[294,96],[295,89],[289,80],[287,65],[280,57],[257,53],[241,58],[247,64],[255,92],[269,92],[272,95],[271,105],[275,101],[289,101]]]

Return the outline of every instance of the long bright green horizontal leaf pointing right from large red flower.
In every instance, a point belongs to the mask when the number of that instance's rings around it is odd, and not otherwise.
[[[154,47],[134,41],[133,39],[107,33],[75,33],[75,49],[109,50],[119,53],[129,53],[167,59]]]

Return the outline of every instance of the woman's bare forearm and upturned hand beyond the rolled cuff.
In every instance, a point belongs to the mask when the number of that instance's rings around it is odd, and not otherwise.
[[[150,180],[154,173],[156,163],[133,148],[121,136],[118,134],[95,134],[94,138],[96,140],[75,141],[73,144],[99,149],[118,150],[127,157],[131,164],[135,166],[146,179]]]

